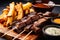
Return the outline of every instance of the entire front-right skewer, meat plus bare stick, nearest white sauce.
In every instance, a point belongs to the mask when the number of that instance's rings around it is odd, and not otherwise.
[[[39,27],[37,27],[37,26],[39,26],[39,24],[41,24],[41,23],[43,23],[43,22],[45,22],[45,21],[47,21],[47,19],[49,19],[49,18],[42,18],[42,19],[39,19],[36,23],[38,23],[38,24],[33,24],[33,26],[31,27],[31,31],[23,38],[23,39],[21,39],[21,40],[25,40],[25,38],[27,38],[33,31],[36,33],[36,32],[38,32],[39,30],[40,30],[40,28]],[[43,20],[42,22],[40,21],[40,20]],[[26,30],[27,31],[27,30]]]

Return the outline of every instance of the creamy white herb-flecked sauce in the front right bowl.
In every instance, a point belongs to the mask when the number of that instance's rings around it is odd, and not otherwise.
[[[59,36],[60,35],[60,28],[56,27],[49,27],[45,30],[45,33],[53,36]]]

